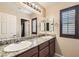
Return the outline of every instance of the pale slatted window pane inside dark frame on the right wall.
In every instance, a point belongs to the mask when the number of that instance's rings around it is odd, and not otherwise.
[[[75,35],[75,10],[62,12],[62,33]]]

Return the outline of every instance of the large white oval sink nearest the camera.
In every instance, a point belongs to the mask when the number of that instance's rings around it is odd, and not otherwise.
[[[13,44],[6,46],[4,48],[4,51],[5,52],[20,51],[22,49],[28,48],[31,45],[32,45],[32,42],[30,42],[30,41],[22,41],[22,42],[19,42],[19,43],[13,43]]]

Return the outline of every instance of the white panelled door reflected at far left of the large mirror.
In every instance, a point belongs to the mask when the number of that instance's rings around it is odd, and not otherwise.
[[[0,12],[0,38],[16,35],[16,16]]]

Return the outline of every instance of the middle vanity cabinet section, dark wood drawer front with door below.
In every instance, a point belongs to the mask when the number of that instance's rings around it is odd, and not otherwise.
[[[39,45],[39,57],[47,57],[49,55],[49,41]]]

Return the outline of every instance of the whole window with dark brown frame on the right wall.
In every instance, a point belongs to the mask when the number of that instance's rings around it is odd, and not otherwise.
[[[78,38],[79,6],[73,6],[60,11],[60,36]]]

